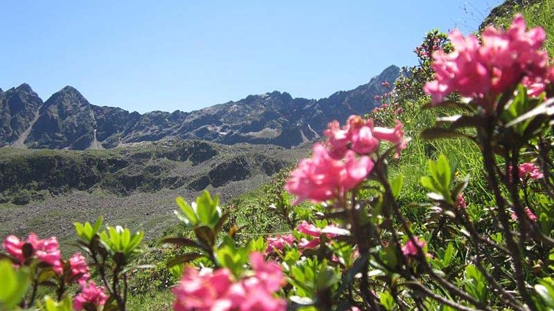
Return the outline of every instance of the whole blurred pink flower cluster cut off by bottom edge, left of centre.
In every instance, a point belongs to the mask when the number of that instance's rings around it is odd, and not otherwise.
[[[285,284],[280,265],[266,262],[262,254],[250,254],[253,276],[233,281],[226,268],[202,273],[188,267],[173,289],[175,311],[284,311],[287,303],[274,297]]]

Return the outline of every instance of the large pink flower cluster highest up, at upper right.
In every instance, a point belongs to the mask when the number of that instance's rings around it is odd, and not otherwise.
[[[515,17],[507,31],[487,28],[481,44],[474,35],[464,37],[456,29],[450,32],[449,39],[454,52],[433,53],[435,80],[424,88],[435,103],[457,91],[462,96],[480,99],[485,109],[492,109],[483,99],[508,90],[522,77],[528,85],[546,82],[548,55],[541,49],[546,35],[542,28],[526,31],[521,15]],[[539,91],[535,86],[535,93]]]

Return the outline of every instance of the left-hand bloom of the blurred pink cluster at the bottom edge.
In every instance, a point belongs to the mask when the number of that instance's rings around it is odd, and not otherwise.
[[[181,283],[172,290],[177,296],[173,308],[175,311],[213,310],[213,305],[225,302],[224,294],[232,284],[229,269],[223,268],[213,273],[199,274],[195,268],[188,267]],[[230,308],[221,310],[230,310]]]

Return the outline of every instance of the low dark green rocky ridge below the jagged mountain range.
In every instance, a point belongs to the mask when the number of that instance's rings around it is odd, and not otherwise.
[[[180,187],[220,188],[256,176],[264,180],[305,156],[307,147],[228,146],[168,138],[101,151],[7,149],[0,153],[0,198],[24,205],[33,196],[59,196],[73,190],[128,196]]]

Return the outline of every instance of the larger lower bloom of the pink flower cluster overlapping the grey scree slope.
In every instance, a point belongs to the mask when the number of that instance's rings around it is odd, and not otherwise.
[[[323,202],[356,187],[373,169],[367,156],[359,159],[353,151],[346,151],[346,162],[335,160],[322,144],[314,144],[312,158],[301,160],[292,171],[285,189],[298,196],[294,204],[310,199]]]

